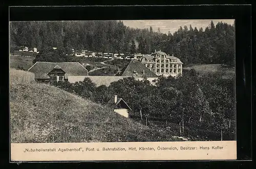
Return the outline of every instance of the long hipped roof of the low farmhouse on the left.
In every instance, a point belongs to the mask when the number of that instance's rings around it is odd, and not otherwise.
[[[61,68],[66,76],[88,76],[88,70],[79,62],[36,62],[28,71],[35,74],[35,79],[49,79],[48,73],[54,68]]]

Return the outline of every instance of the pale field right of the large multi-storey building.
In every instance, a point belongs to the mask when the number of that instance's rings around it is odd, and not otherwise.
[[[221,64],[190,64],[183,67],[184,70],[192,68],[194,68],[199,74],[221,72],[224,73],[223,78],[236,76],[234,67],[222,66]]]

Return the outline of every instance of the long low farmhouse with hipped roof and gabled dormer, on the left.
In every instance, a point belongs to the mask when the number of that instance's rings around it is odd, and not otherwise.
[[[83,81],[88,76],[88,70],[78,62],[36,62],[28,71],[35,74],[35,80],[40,82]]]

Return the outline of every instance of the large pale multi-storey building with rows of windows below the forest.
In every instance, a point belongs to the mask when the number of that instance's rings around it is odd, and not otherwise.
[[[177,76],[182,75],[182,62],[179,58],[169,56],[164,52],[155,51],[151,55],[141,58],[141,63],[158,76]]]

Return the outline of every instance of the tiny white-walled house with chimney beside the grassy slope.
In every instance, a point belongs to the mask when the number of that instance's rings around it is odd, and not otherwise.
[[[115,95],[107,104],[107,107],[114,110],[114,112],[129,118],[129,110],[132,109],[127,105],[127,103],[124,102],[122,98],[118,98],[117,95]]]

